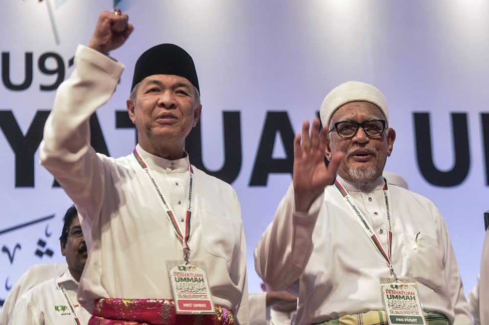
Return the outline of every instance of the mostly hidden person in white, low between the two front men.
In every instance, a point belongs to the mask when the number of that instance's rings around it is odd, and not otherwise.
[[[295,317],[297,297],[285,290],[273,291],[262,283],[263,292],[249,293],[251,325],[289,325]]]

